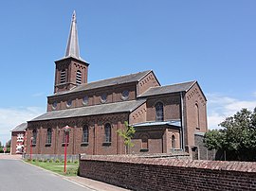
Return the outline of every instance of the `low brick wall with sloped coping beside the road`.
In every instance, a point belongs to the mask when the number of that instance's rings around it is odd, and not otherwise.
[[[256,190],[256,163],[86,156],[80,175],[132,190]]]

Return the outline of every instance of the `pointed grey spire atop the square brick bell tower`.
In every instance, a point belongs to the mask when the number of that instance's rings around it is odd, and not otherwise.
[[[64,57],[73,57],[81,60],[79,52],[79,41],[78,41],[78,29],[77,29],[77,17],[76,11],[74,10],[72,15],[72,21],[70,26],[69,37],[66,44],[66,50]]]

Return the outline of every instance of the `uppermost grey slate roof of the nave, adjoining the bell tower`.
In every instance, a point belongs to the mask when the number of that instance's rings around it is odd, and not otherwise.
[[[63,94],[72,93],[72,92],[102,88],[102,87],[107,87],[107,86],[116,85],[116,84],[136,82],[136,81],[139,81],[141,78],[145,77],[150,72],[152,72],[152,70],[147,70],[144,72],[138,72],[136,74],[130,74],[130,75],[120,76],[116,78],[102,79],[99,81],[94,81],[94,82],[79,85],[70,91],[60,92],[60,93],[57,93],[56,95],[63,95]]]

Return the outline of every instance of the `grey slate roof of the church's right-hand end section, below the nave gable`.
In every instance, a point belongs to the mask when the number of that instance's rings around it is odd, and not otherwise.
[[[196,83],[196,81],[176,83],[173,85],[166,85],[166,86],[160,86],[160,87],[152,87],[148,91],[146,91],[144,94],[140,95],[140,97],[164,95],[164,94],[171,94],[171,93],[178,93],[178,92],[187,92],[188,90],[190,90],[190,88],[194,83]]]

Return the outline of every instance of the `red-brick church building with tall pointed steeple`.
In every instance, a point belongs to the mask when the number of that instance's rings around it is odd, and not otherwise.
[[[26,152],[33,156],[124,154],[117,130],[136,129],[129,153],[200,150],[207,129],[207,99],[197,81],[161,86],[152,70],[88,82],[73,13],[64,58],[55,61],[54,94],[46,113],[27,122]],[[65,131],[64,127],[70,127]],[[200,152],[198,152],[200,153]]]

